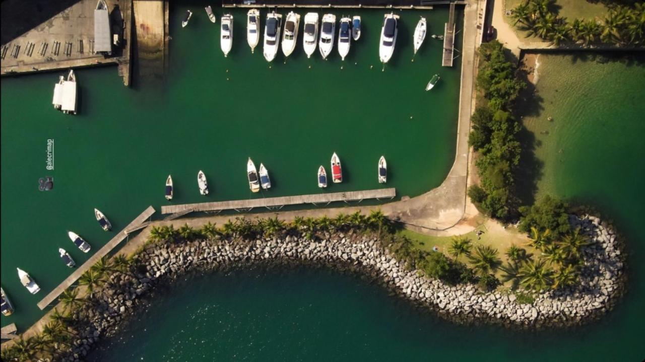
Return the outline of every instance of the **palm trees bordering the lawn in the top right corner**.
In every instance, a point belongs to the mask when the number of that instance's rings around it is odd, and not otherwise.
[[[578,1],[582,3],[582,1]],[[602,22],[594,19],[567,21],[559,16],[555,0],[526,0],[513,8],[513,25],[555,45],[597,43],[640,45],[645,41],[645,5],[631,2],[611,3]]]

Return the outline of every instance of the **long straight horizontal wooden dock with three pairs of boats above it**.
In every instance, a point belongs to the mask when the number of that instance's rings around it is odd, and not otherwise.
[[[286,205],[302,204],[330,204],[338,201],[362,201],[367,199],[393,198],[396,190],[375,189],[364,191],[348,191],[345,193],[321,193],[313,195],[281,196],[267,198],[252,198],[250,200],[233,200],[220,202],[201,202],[199,204],[166,205],[161,207],[162,214],[190,213],[193,211],[248,211],[255,207],[266,207],[267,209],[281,209]],[[186,212],[187,211],[187,212]]]

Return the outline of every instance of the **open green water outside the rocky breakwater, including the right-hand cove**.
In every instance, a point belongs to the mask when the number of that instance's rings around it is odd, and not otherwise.
[[[638,161],[645,155],[640,101],[645,59],[628,64],[578,59],[573,68],[573,57],[541,59],[538,95],[544,109],[527,120],[542,141],[540,193],[598,207],[628,242],[630,292],[600,321],[541,332],[462,327],[414,310],[353,276],[308,269],[244,271],[186,278],[160,291],[162,298],[127,332],[104,341],[90,360],[642,360],[645,245],[639,229],[645,175]],[[539,135],[536,119],[547,122],[548,115],[554,118],[551,132]],[[549,147],[564,151],[547,153]],[[562,162],[560,155],[566,155]]]

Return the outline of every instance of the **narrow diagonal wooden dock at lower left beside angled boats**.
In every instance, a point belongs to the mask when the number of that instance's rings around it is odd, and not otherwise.
[[[114,249],[119,243],[123,241],[128,236],[128,233],[130,233],[132,230],[136,229],[139,225],[144,224],[146,222],[146,219],[148,219],[152,214],[155,213],[155,209],[152,206],[148,206],[147,209],[143,211],[137,218],[132,220],[130,224],[128,224],[126,227],[124,227],[123,230],[119,231],[118,234],[112,238],[108,243],[103,245],[99,251],[95,252],[90,258],[83,263],[80,267],[78,267],[70,276],[68,276],[65,280],[63,280],[63,283],[60,283],[58,287],[55,287],[53,291],[51,291],[43,300],[38,302],[38,308],[45,309],[48,305],[50,305],[56,298],[58,298],[59,295],[65,289],[69,288],[72,284],[75,283],[78,278],[81,278],[81,275],[83,275],[84,272],[88,271],[92,265],[94,265],[96,262],[98,262],[103,256],[106,256],[112,249]]]

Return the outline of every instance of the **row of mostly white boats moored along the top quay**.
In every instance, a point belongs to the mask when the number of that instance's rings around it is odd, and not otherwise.
[[[206,14],[215,23],[215,15],[210,6],[206,7]],[[188,10],[184,16],[182,26],[188,24],[191,16],[192,12]],[[266,15],[263,54],[267,61],[271,62],[275,59],[281,39],[281,49],[284,56],[288,57],[293,53],[297,44],[300,22],[301,15],[295,12],[289,12],[286,15],[284,25],[282,14],[272,11]],[[426,37],[427,26],[426,18],[421,17],[413,35],[415,54],[421,48],[421,44]],[[255,52],[255,48],[259,44],[260,30],[260,11],[251,9],[246,14],[246,41],[252,53]],[[316,47],[318,47],[323,59],[327,59],[332,52],[333,44],[337,43],[339,55],[344,60],[350,52],[352,40],[357,41],[361,37],[361,17],[358,15],[351,18],[341,17],[338,32],[336,32],[336,15],[324,14],[320,19],[318,13],[310,12],[304,15],[303,33],[303,49],[308,58],[312,56]],[[337,39],[335,39],[336,33],[338,33]],[[394,13],[385,14],[379,41],[379,59],[381,59],[381,62],[386,63],[392,58],[398,33],[399,15]],[[221,18],[220,46],[224,57],[228,56],[233,46],[232,14],[224,14]]]

